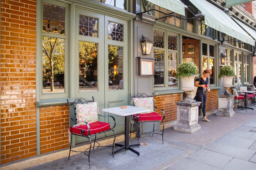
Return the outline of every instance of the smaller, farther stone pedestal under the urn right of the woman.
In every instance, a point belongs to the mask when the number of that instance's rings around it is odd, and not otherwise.
[[[215,113],[217,116],[231,117],[235,115],[233,110],[234,96],[217,95],[218,96],[218,111]]]

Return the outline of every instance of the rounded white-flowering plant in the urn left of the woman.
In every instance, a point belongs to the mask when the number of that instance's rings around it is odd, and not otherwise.
[[[178,66],[176,77],[189,77],[192,75],[198,75],[198,68],[196,64],[186,61]]]

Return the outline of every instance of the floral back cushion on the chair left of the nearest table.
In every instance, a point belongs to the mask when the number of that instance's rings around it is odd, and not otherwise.
[[[92,102],[87,104],[76,105],[76,117],[78,125],[85,125],[84,122],[93,123],[99,121],[98,113],[99,107],[98,102]]]

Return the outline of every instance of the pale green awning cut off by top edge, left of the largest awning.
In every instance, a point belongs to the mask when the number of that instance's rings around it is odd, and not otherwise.
[[[180,0],[147,0],[162,8],[185,16],[185,5]]]

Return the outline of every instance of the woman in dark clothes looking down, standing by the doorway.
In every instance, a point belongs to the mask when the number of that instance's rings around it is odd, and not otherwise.
[[[198,87],[196,91],[196,101],[201,102],[199,105],[199,110],[202,109],[203,121],[211,122],[206,118],[206,101],[207,101],[207,91],[210,91],[208,87],[208,78],[210,75],[210,70],[206,69],[203,75],[198,76],[195,81],[195,86]]]

